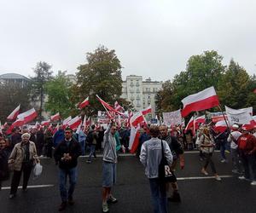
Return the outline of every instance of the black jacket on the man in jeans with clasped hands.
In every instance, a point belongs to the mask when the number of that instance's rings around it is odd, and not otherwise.
[[[63,157],[64,153],[69,153],[72,157],[69,161],[63,161],[61,158]],[[77,166],[79,155],[82,154],[81,147],[79,142],[74,141],[73,138],[67,145],[67,141],[61,141],[59,145],[55,148],[55,162],[59,164],[59,167],[62,170],[69,170]]]

